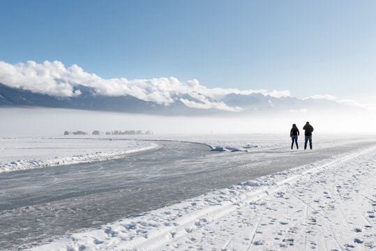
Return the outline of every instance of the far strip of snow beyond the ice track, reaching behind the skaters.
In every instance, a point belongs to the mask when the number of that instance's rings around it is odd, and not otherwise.
[[[342,135],[315,135],[315,149],[343,144]],[[50,136],[0,137],[0,173],[71,165],[121,158],[127,153],[155,149],[153,141],[197,142],[214,151],[266,151],[289,146],[289,135],[127,135],[127,136]],[[346,142],[364,142],[367,137],[347,137]],[[303,137],[299,137],[303,149]]]

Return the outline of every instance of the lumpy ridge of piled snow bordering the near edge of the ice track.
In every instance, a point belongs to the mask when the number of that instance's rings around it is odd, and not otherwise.
[[[85,247],[91,250],[154,250],[245,205],[257,203],[307,174],[347,162],[370,151],[376,151],[376,146],[232,185],[99,229],[60,238],[32,250],[80,250]]]

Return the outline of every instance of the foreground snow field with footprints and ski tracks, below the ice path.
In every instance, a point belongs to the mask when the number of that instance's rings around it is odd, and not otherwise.
[[[376,146],[337,155],[32,250],[369,250],[375,157]]]

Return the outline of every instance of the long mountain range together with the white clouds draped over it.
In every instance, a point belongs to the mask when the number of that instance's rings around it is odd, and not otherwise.
[[[15,65],[0,61],[0,106],[206,115],[361,109],[356,105],[329,95],[299,99],[289,91],[210,89],[197,79],[103,79],[75,64],[66,68],[60,61]]]

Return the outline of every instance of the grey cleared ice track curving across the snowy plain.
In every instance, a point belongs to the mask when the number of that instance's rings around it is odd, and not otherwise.
[[[375,142],[253,153],[158,144],[158,150],[119,160],[0,174],[0,250],[27,248]]]

